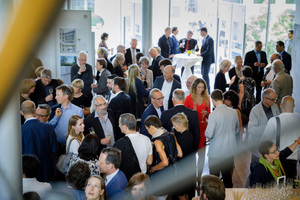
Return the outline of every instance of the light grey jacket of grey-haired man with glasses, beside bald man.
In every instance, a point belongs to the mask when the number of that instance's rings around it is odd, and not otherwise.
[[[280,114],[278,106],[274,104],[271,107],[273,116]],[[258,144],[260,142],[261,136],[267,126],[268,118],[263,109],[262,102],[254,106],[250,112],[249,123],[248,123],[248,132],[250,141],[253,144]],[[260,153],[257,150],[252,152],[255,156],[260,157]]]

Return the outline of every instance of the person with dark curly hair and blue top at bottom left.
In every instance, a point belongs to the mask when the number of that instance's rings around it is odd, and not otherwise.
[[[90,168],[88,164],[84,162],[77,162],[68,171],[66,180],[74,199],[84,199],[85,193],[83,189],[90,174]]]

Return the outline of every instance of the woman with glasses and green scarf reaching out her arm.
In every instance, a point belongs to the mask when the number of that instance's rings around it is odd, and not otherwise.
[[[256,183],[266,184],[277,181],[277,178],[285,175],[282,162],[289,157],[300,144],[300,137],[293,144],[286,147],[282,151],[270,141],[264,141],[259,145],[261,157],[259,163],[254,167],[253,173],[250,175],[250,185]]]

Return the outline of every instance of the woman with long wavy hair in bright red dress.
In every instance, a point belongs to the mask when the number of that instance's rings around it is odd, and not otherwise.
[[[184,105],[187,108],[198,112],[199,127],[200,127],[200,143],[199,148],[205,147],[206,137],[204,135],[207,118],[210,113],[210,97],[207,92],[205,80],[197,78],[194,80],[190,95],[186,97]]]

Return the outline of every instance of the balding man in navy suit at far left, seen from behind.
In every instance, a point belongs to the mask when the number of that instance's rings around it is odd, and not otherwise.
[[[21,105],[21,114],[25,123],[22,131],[22,154],[34,154],[41,163],[41,171],[37,175],[40,182],[50,182],[55,176],[57,142],[51,124],[37,120],[34,102],[27,100]]]

